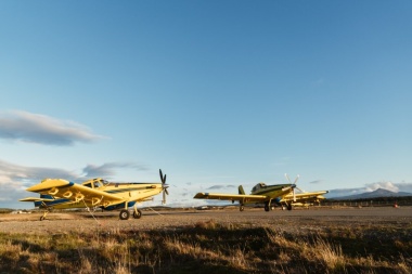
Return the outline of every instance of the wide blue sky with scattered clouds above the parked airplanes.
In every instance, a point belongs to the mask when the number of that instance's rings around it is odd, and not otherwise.
[[[412,192],[411,11],[1,1],[0,207],[30,208],[16,200],[43,178],[156,182],[159,168],[169,205],[284,173],[331,196]]]

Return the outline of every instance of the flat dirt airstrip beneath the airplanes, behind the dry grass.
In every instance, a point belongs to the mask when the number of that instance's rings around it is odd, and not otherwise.
[[[205,222],[235,226],[269,226],[293,234],[317,233],[351,227],[378,230],[389,227],[412,235],[412,207],[311,208],[265,212],[247,208],[223,210],[144,210],[141,219],[120,221],[118,212],[51,212],[39,221],[41,213],[0,214],[0,233],[65,234],[95,231],[147,231],[194,227]]]

